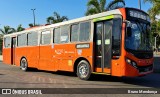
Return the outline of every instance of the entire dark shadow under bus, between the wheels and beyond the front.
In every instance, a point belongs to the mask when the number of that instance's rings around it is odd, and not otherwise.
[[[30,69],[28,72],[45,72],[45,73],[51,73],[51,74],[67,76],[67,77],[76,77],[75,73],[64,72],[64,71],[50,72],[50,71],[43,71],[43,70],[37,70],[37,69]],[[115,77],[110,75],[92,74],[89,81],[92,81],[92,82],[95,81],[95,84],[96,82],[121,82],[125,84],[132,84],[132,85],[138,85],[138,86],[160,88],[159,76],[160,74],[158,73],[153,73],[143,77]]]

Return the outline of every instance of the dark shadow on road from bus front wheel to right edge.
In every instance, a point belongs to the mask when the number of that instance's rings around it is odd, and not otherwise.
[[[91,80],[105,82],[122,82],[125,84],[160,88],[160,74],[158,73],[153,73],[143,77],[114,77],[109,75],[92,75]]]

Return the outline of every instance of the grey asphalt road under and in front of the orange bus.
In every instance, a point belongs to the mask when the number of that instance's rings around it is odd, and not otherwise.
[[[35,69],[23,72],[19,67],[0,62],[0,88],[160,88],[160,73],[152,73],[144,77],[134,78],[92,75],[90,81],[83,81],[76,77],[74,73],[47,72]],[[2,96],[4,95],[0,95],[0,97]],[[57,94],[55,96],[59,97],[60,95]],[[65,94],[64,96],[74,97],[77,95]],[[97,96],[107,97],[106,94],[92,95],[92,97]],[[135,95],[132,94],[131,97],[133,96]],[[153,95],[153,97],[157,96]],[[87,97],[87,95],[78,95],[78,97]]]

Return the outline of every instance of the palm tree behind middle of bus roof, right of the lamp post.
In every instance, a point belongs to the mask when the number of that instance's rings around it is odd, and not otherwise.
[[[53,16],[48,17],[46,21],[48,24],[54,24],[67,20],[68,20],[67,16],[60,16],[57,12],[54,12]]]

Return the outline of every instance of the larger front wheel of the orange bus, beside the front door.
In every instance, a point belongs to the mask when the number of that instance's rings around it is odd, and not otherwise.
[[[91,67],[89,63],[85,60],[82,60],[77,65],[77,76],[82,80],[88,80],[91,75]]]

